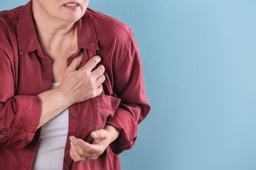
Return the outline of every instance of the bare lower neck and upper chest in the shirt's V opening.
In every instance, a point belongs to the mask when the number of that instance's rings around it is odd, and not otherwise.
[[[41,20],[35,23],[41,49],[53,63],[53,82],[60,82],[67,67],[67,59],[78,50],[76,24],[56,29],[45,27]]]

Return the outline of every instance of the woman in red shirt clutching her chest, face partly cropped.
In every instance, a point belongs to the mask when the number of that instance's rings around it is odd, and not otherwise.
[[[0,12],[1,169],[120,169],[146,100],[131,29],[89,0]]]

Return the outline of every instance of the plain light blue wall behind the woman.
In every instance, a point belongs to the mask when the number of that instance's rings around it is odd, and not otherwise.
[[[1,1],[0,10],[27,1]],[[121,154],[123,170],[256,169],[256,1],[89,7],[129,24],[140,46],[152,110]]]

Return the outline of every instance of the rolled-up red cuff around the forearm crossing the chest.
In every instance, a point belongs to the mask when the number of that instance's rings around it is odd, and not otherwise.
[[[41,99],[37,96],[16,95],[2,110],[7,120],[0,131],[6,146],[23,148],[33,140],[41,118]]]

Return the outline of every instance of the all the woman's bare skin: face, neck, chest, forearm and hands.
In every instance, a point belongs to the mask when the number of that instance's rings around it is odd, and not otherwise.
[[[71,0],[33,0],[33,16],[37,37],[45,54],[53,61],[53,81],[61,82],[58,88],[40,93],[42,114],[39,127],[58,116],[74,103],[92,99],[103,91],[104,66],[99,65],[100,56],[91,58],[81,69],[83,54],[79,54],[70,64],[67,59],[77,52],[76,22],[85,14],[89,0],[72,1],[79,3],[75,9],[64,5]],[[74,161],[90,161],[100,156],[119,132],[110,125],[93,131],[92,144],[82,139],[70,137],[70,156]]]

